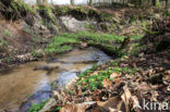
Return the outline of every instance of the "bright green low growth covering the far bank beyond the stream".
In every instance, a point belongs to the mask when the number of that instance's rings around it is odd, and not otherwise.
[[[130,36],[131,40],[138,40],[142,35],[132,35]],[[117,36],[113,34],[104,34],[104,33],[90,33],[90,32],[80,32],[75,34],[61,34],[56,36],[53,42],[49,45],[46,49],[47,53],[64,52],[71,50],[73,46],[78,45],[80,41],[85,41],[88,46],[99,48],[110,55],[121,57],[124,53],[122,50],[117,50],[117,47],[113,45],[122,43],[124,37]],[[65,46],[65,47],[63,47]]]

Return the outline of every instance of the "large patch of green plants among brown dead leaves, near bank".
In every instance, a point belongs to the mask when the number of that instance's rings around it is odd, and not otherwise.
[[[104,87],[102,85],[104,79],[113,80],[112,78],[110,78],[110,75],[114,72],[119,74],[130,74],[130,75],[133,75],[137,72],[137,69],[120,67],[118,63],[119,62],[117,60],[108,62],[109,66],[106,70],[102,71],[100,70],[93,75],[90,74],[94,73],[94,71],[96,71],[98,66],[95,66],[95,69],[92,67],[90,70],[86,70],[85,72],[80,74],[78,76],[80,79],[77,84],[83,86],[83,90],[90,89],[92,91],[94,91],[96,89],[100,89]]]

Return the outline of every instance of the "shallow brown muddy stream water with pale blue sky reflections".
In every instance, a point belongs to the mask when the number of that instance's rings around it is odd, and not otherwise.
[[[102,51],[95,48],[75,49],[57,55],[48,62],[29,62],[0,73],[0,112],[3,109],[19,111],[16,109],[25,100],[28,101],[25,101],[23,107],[28,108],[32,103],[38,103],[50,97],[50,84],[53,80],[58,79],[63,86],[77,75],[76,73],[90,67],[94,63],[102,63],[109,59]],[[41,70],[44,66],[50,67],[50,71]]]

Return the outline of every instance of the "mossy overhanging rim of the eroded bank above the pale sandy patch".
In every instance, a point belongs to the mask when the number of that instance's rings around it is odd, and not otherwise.
[[[85,20],[85,18],[94,18],[98,22],[112,22],[112,17],[114,15],[106,13],[106,12],[97,12],[97,10],[87,8],[87,7],[56,7],[53,10],[56,15],[66,15],[71,14],[77,20]]]

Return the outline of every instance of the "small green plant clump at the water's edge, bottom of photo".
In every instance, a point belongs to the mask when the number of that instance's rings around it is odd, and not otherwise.
[[[37,103],[32,104],[28,112],[39,112],[39,110],[44,108],[46,102],[47,102],[46,100],[42,100],[39,104]]]

